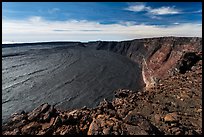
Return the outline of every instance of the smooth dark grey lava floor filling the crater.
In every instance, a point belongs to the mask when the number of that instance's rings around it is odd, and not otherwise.
[[[141,68],[125,56],[78,43],[2,47],[2,120],[47,102],[95,107],[113,90],[141,89]]]

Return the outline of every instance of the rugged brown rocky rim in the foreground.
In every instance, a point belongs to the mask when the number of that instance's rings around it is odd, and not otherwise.
[[[45,103],[13,114],[2,134],[202,135],[202,58],[185,70],[187,64],[151,89],[119,89],[96,108],[60,111]]]

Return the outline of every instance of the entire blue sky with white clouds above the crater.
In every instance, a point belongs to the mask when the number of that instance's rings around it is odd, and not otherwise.
[[[201,2],[2,2],[2,43],[202,37]]]

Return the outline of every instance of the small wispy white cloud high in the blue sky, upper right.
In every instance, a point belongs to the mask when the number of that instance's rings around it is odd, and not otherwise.
[[[150,6],[146,6],[145,3],[130,5],[129,7],[125,8],[125,10],[133,11],[133,12],[146,11],[152,15],[167,15],[167,14],[179,14],[179,13],[181,13],[180,10],[175,9],[174,7],[163,6],[160,8],[152,8]]]

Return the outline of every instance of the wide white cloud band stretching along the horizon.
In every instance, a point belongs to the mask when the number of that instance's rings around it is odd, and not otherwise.
[[[87,20],[48,21],[36,16],[27,20],[2,21],[3,42],[121,41],[160,36],[202,37],[202,24],[185,23],[167,27],[133,23],[100,24]]]

